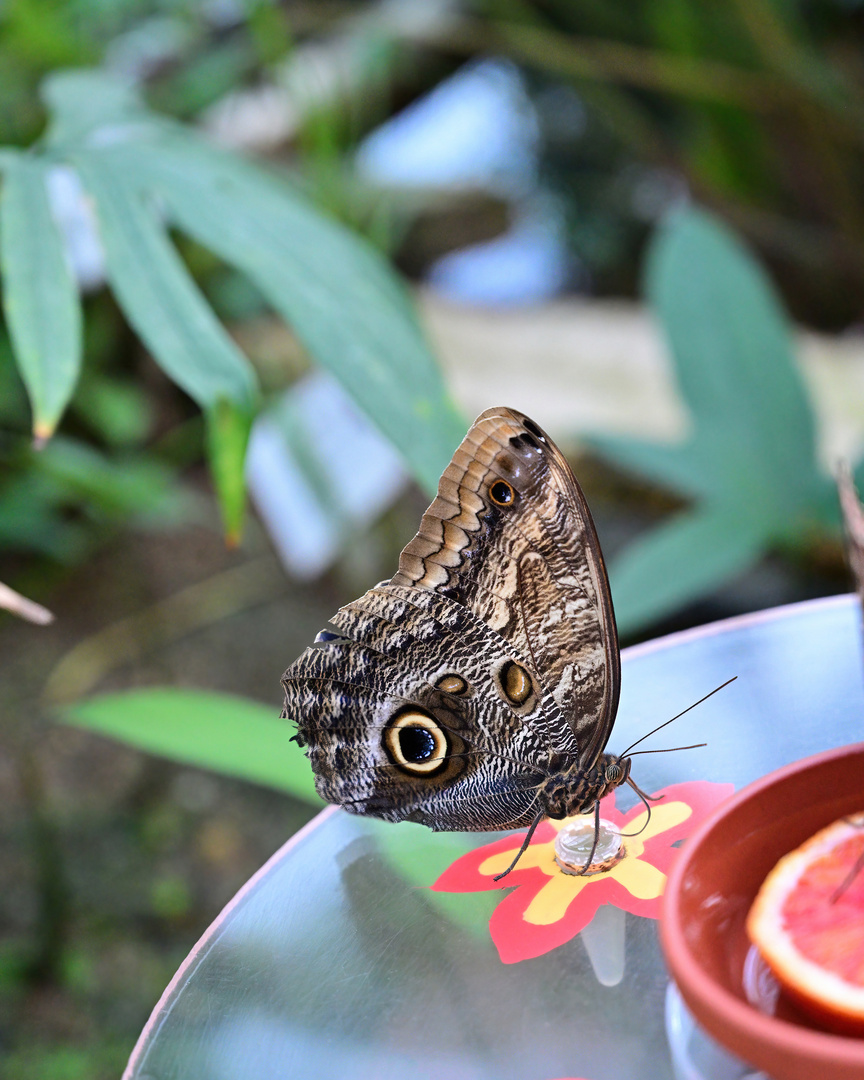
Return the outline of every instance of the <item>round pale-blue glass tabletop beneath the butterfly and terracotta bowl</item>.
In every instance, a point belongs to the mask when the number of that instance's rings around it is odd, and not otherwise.
[[[625,650],[609,748],[622,750],[732,675],[735,683],[648,743],[707,747],[636,758],[643,788],[691,780],[740,787],[860,741],[859,623],[853,597],[829,597]],[[620,808],[632,801],[629,791],[619,794]],[[674,1077],[669,976],[653,919],[607,905],[565,945],[503,963],[488,922],[505,882],[471,894],[426,888],[491,839],[325,810],[198,943],[125,1077]]]

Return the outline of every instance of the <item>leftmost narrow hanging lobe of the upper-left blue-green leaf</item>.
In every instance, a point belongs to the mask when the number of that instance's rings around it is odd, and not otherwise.
[[[50,437],[81,369],[81,305],[48,195],[49,164],[8,158],[0,202],[3,310],[33,410]]]

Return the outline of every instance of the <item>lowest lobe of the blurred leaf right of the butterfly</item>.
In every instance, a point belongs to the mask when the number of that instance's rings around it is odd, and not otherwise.
[[[633,633],[716,589],[758,558],[767,539],[765,523],[717,505],[634,541],[609,568],[619,631]]]

